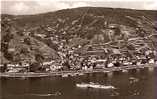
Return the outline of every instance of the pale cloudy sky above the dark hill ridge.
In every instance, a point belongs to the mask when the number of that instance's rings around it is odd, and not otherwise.
[[[76,7],[157,10],[157,0],[0,0],[2,14],[28,15]]]

